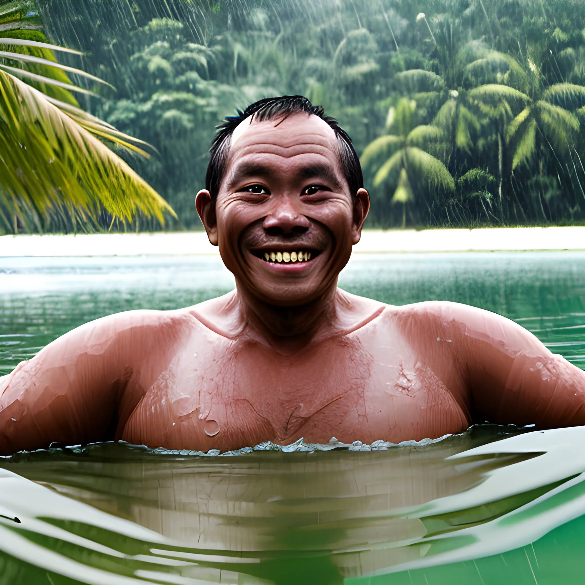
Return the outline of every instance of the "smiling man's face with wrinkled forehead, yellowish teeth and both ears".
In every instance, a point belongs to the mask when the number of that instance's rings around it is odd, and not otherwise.
[[[333,130],[305,113],[240,123],[215,216],[208,195],[197,208],[225,265],[254,297],[282,306],[336,284],[369,205],[363,189],[352,199]]]

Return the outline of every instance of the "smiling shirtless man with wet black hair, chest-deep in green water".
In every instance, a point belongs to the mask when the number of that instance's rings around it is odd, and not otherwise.
[[[300,96],[226,119],[197,211],[236,290],[74,329],[0,378],[0,452],[123,439],[229,450],[403,441],[476,421],[585,424],[585,373],[499,315],[337,288],[369,198],[349,137]]]

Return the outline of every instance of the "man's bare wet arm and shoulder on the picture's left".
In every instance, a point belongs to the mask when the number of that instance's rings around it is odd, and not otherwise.
[[[0,378],[0,453],[117,439],[188,329],[178,312],[82,325]]]

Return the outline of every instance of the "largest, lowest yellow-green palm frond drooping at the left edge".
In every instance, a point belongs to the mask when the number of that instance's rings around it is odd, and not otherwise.
[[[0,71],[0,201],[11,214],[46,216],[100,206],[121,219],[137,210],[164,221],[168,204],[128,164],[38,90]]]

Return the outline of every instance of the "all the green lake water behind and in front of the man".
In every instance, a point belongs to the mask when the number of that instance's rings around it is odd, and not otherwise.
[[[490,309],[585,367],[584,274],[585,253],[364,254],[340,286]],[[91,319],[232,287],[212,256],[1,259],[0,374]],[[582,583],[583,441],[481,425],[398,446],[18,453],[0,459],[0,584]]]

